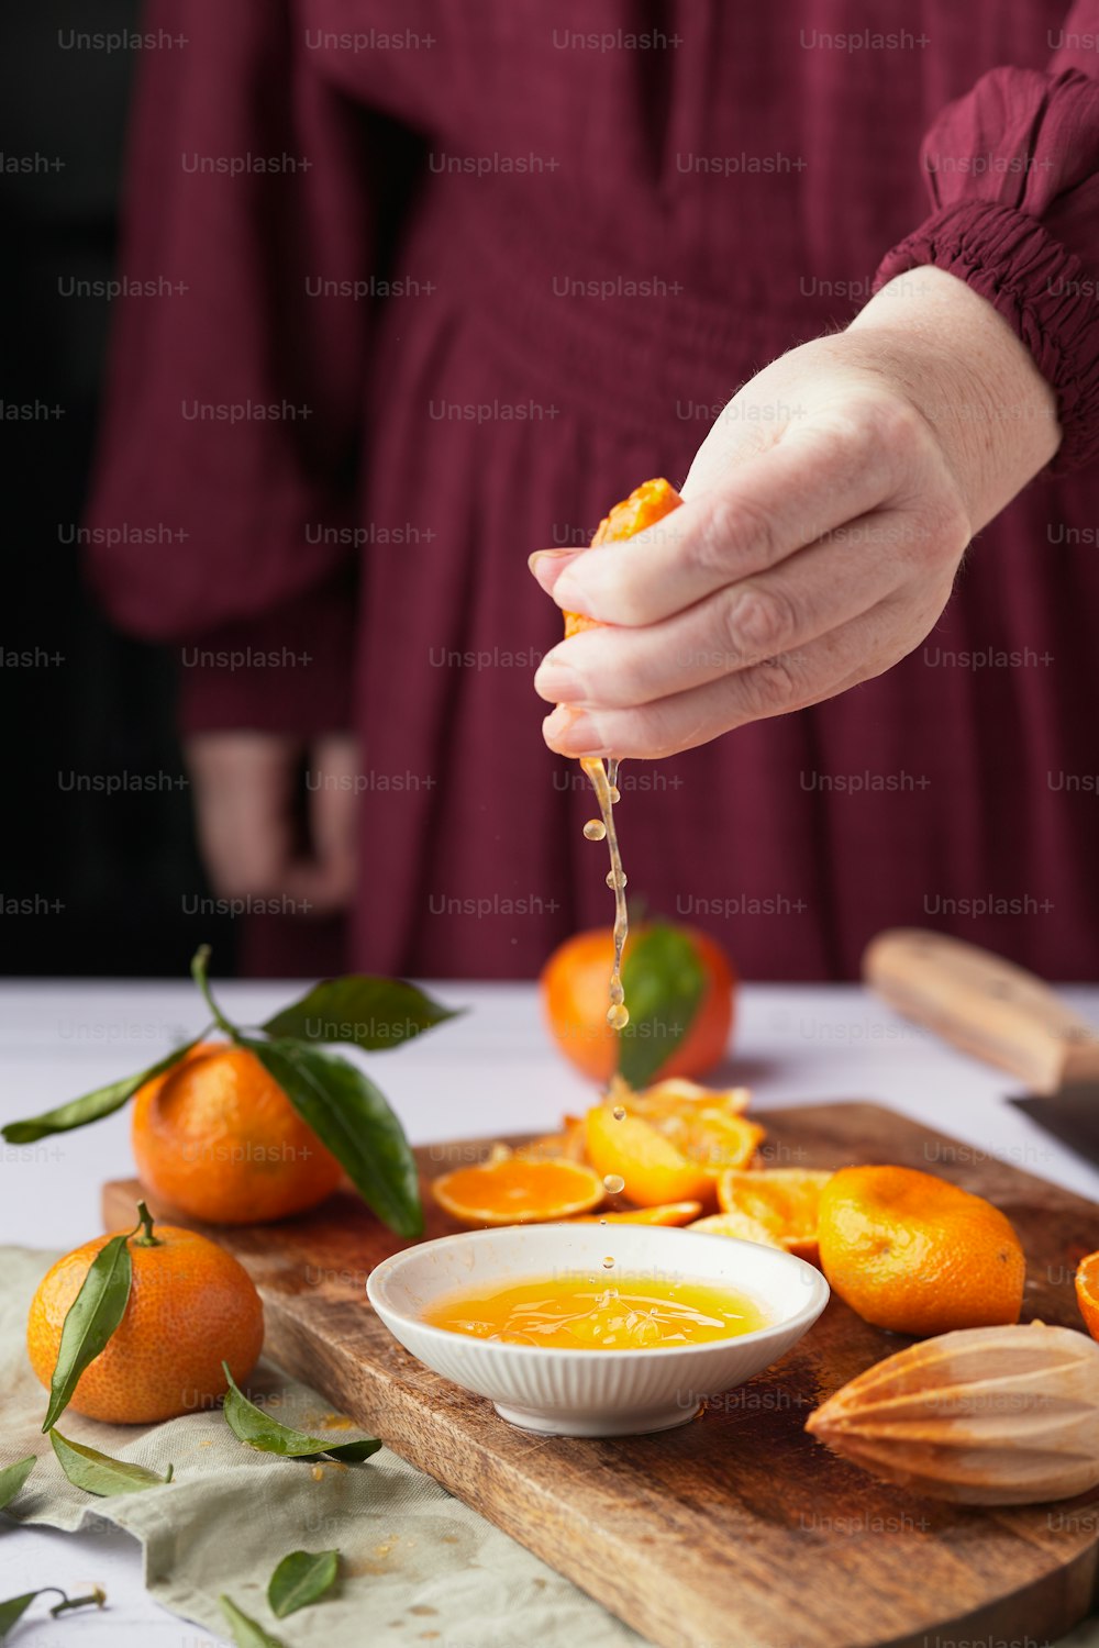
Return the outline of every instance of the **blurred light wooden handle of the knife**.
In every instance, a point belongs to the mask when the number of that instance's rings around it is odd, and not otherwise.
[[[862,957],[867,986],[1035,1093],[1099,1079],[1099,1037],[1041,979],[987,949],[921,928],[891,928]]]

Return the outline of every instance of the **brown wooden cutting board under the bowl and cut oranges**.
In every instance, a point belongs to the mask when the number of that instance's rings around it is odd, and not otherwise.
[[[989,1196],[1027,1248],[1023,1317],[1081,1327],[1073,1272],[1099,1248],[1094,1203],[877,1104],[760,1119],[776,1165],[901,1162]],[[486,1149],[461,1140],[417,1154],[433,1178]],[[135,1180],[105,1187],[107,1228],[133,1221],[138,1193]],[[455,1228],[425,1205],[428,1236]],[[211,1234],[252,1272],[277,1363],[662,1648],[1046,1643],[1092,1604],[1099,1490],[1055,1506],[959,1510],[883,1486],[804,1434],[825,1396],[906,1343],[837,1299],[779,1365],[694,1424],[544,1437],[516,1430],[389,1337],[364,1284],[404,1244],[353,1195]]]

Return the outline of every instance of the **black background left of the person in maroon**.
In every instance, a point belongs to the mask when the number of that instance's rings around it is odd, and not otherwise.
[[[232,923],[188,916],[180,898],[181,887],[208,888],[173,730],[171,659],[112,628],[79,545],[63,541],[81,521],[112,303],[61,287],[112,274],[140,53],[61,40],[137,26],[138,0],[36,0],[0,23],[0,481],[12,580],[0,628],[2,974],[183,976],[203,939],[219,972],[232,967]],[[13,170],[28,160],[35,170]],[[23,404],[38,415],[13,420]],[[77,775],[158,775],[158,788],[81,791]]]

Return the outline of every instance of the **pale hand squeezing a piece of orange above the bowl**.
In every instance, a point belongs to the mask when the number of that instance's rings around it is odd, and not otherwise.
[[[608,626],[542,661],[547,743],[672,755],[882,674],[1058,440],[995,310],[942,270],[898,277],[733,397],[680,509],[629,544],[532,557],[559,606]]]

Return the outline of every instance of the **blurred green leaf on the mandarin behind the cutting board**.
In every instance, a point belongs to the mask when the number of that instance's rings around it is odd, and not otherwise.
[[[654,921],[623,966],[629,1023],[620,1033],[618,1074],[644,1088],[694,1023],[707,989],[707,972],[690,936]]]

